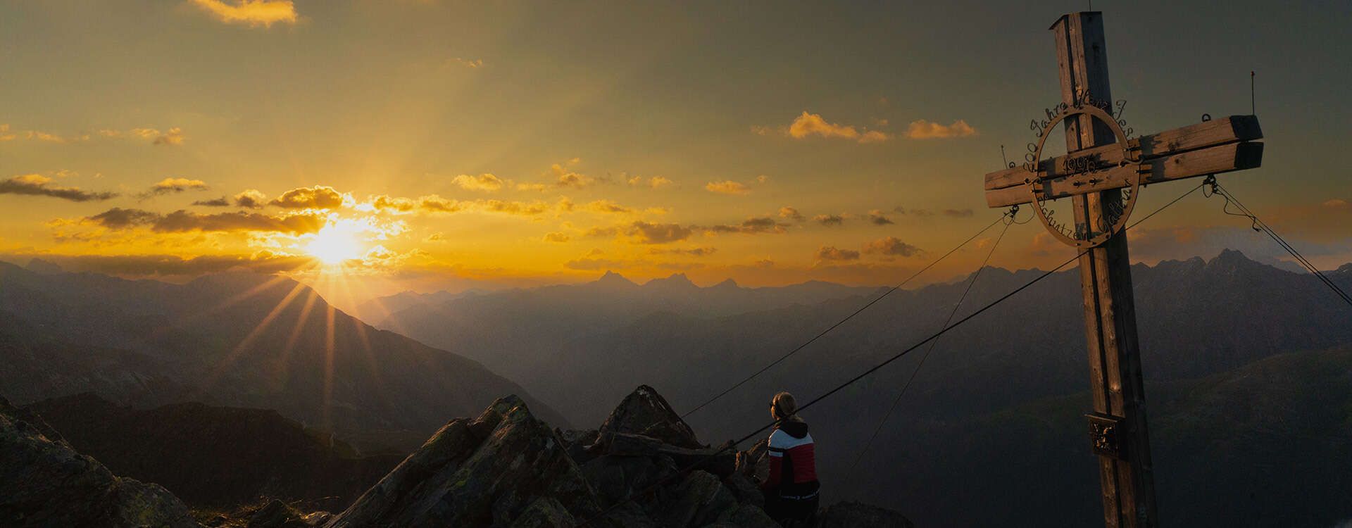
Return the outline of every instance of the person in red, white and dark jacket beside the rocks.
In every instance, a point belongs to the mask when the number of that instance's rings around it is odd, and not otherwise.
[[[761,482],[765,513],[784,521],[806,521],[817,514],[817,460],[813,435],[798,416],[794,394],[779,393],[769,401],[777,424],[769,433],[769,477]]]

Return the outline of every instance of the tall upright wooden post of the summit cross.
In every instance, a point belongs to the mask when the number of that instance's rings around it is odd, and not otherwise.
[[[1052,31],[1056,34],[1061,101],[1075,104],[1086,95],[1111,101],[1102,14],[1064,15],[1052,24]],[[1088,115],[1065,120],[1067,153],[1115,140],[1105,123]],[[1098,226],[1106,215],[1103,204],[1118,203],[1121,192],[1107,189],[1072,196],[1076,230],[1090,231],[1091,226]],[[1107,527],[1144,528],[1157,525],[1157,513],[1130,266],[1125,234],[1110,236],[1079,258],[1094,412],[1121,424],[1118,456],[1098,455],[1103,521]]]

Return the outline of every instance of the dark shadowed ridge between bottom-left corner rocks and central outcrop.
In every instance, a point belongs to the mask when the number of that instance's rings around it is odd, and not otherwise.
[[[193,506],[273,497],[342,508],[404,458],[360,456],[266,409],[187,402],[138,411],[93,393],[26,409],[114,473],[160,483]]]

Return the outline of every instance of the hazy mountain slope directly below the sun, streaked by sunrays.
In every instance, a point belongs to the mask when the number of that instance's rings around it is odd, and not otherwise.
[[[165,379],[219,404],[277,409],[341,433],[407,431],[404,438],[420,440],[445,416],[504,393],[561,420],[480,363],[375,329],[277,277],[219,274],[170,285],[0,265],[0,312],[18,321],[0,325],[0,352],[12,365],[0,369],[0,384],[30,398],[20,402],[85,390],[134,402],[127,394],[143,390],[145,379]],[[42,363],[53,347],[119,350],[104,354],[122,358],[119,382],[26,377],[50,370]],[[78,354],[65,358],[73,369],[92,369]]]

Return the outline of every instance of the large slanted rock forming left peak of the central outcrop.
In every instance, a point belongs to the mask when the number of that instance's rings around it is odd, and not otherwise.
[[[510,396],[442,427],[326,527],[508,527],[531,508],[549,519],[541,498],[575,519],[600,513],[554,431]]]

